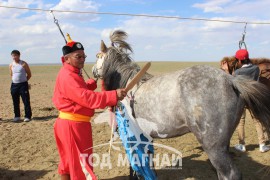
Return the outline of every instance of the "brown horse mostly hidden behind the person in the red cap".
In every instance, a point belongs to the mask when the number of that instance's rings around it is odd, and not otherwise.
[[[256,64],[260,68],[259,81],[265,84],[270,89],[270,59],[267,58],[251,58],[252,64]],[[234,56],[224,57],[220,61],[220,68],[225,70],[227,73],[232,74],[236,69],[239,68],[238,61]]]

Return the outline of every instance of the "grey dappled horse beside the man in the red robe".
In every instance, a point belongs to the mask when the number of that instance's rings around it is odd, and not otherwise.
[[[105,88],[124,88],[139,71],[125,41],[127,34],[114,31],[111,47],[101,43],[95,77]],[[192,132],[201,143],[219,179],[241,179],[228,147],[244,106],[270,129],[270,93],[261,83],[233,77],[206,65],[152,76],[146,74],[129,96],[140,128],[153,138],[171,138]]]

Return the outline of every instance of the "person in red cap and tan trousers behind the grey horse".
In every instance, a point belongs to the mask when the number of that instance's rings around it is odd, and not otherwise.
[[[246,76],[247,78],[253,79],[254,81],[259,80],[260,69],[257,65],[251,64],[249,59],[249,53],[246,49],[238,50],[235,54],[235,58],[238,60],[240,68],[234,72],[233,74],[234,76],[243,75]],[[245,118],[246,118],[246,109],[244,109],[244,112],[237,127],[239,144],[235,145],[235,149],[242,152],[246,151],[245,130],[244,130]],[[269,151],[270,147],[265,144],[265,142],[268,139],[264,127],[262,126],[262,124],[259,122],[258,119],[253,118],[253,121],[255,123],[256,131],[258,134],[259,150],[261,152]]]

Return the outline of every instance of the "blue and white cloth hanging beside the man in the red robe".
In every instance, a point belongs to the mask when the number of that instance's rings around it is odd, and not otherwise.
[[[154,155],[152,138],[142,132],[135,122],[127,100],[119,103],[115,111],[118,132],[131,167],[145,180],[156,180],[150,155]]]

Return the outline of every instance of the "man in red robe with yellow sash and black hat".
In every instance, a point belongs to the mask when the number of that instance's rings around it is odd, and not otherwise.
[[[115,106],[126,92],[124,89],[94,92],[97,87],[95,80],[85,82],[81,74],[86,58],[83,45],[69,38],[62,51],[63,67],[56,78],[53,95],[53,103],[59,110],[54,124],[60,155],[58,172],[62,180],[96,180],[91,165],[91,117],[97,108]]]

